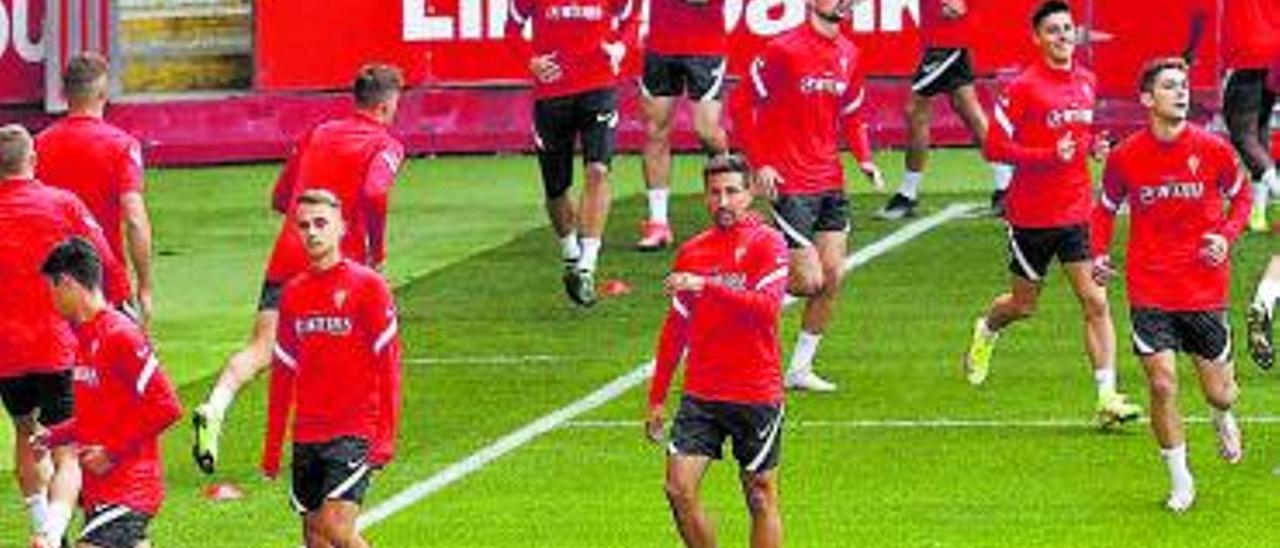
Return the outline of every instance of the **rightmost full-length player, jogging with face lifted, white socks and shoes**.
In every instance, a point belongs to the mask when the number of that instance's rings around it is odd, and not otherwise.
[[[1180,58],[1157,59],[1143,70],[1142,104],[1151,128],[1107,157],[1092,223],[1093,274],[1105,284],[1114,274],[1108,247],[1115,215],[1129,204],[1125,275],[1133,348],[1147,370],[1151,429],[1172,485],[1166,506],[1175,512],[1196,499],[1178,412],[1176,352],[1189,353],[1196,364],[1222,458],[1235,463],[1244,456],[1231,415],[1239,388],[1226,307],[1230,248],[1248,219],[1249,192],[1231,146],[1187,122],[1188,81]]]

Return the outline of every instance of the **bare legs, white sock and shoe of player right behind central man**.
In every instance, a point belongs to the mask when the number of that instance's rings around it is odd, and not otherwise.
[[[804,316],[800,321],[800,333],[796,335],[796,346],[791,351],[791,364],[787,367],[787,388],[832,392],[833,383],[818,376],[813,371],[814,356],[818,353],[818,344],[822,343],[822,334],[831,323],[831,316],[836,309],[836,298],[840,296],[840,286],[844,279],[845,254],[849,248],[849,236],[844,232],[819,232],[814,236],[813,254],[801,255],[794,250],[791,254],[791,268],[797,266],[799,274],[792,275],[792,287],[796,286],[797,277],[804,284],[801,289],[808,289]],[[817,259],[817,265],[813,259]],[[814,274],[817,266],[817,275]],[[804,293],[801,293],[804,294]]]

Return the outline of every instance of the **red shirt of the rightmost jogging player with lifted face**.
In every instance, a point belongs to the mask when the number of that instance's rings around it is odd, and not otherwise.
[[[1234,242],[1249,215],[1249,188],[1230,143],[1196,125],[1171,142],[1142,131],[1107,157],[1102,184],[1093,211],[1093,252],[1107,255],[1115,214],[1129,202],[1125,275],[1133,306],[1228,306],[1230,260],[1211,266],[1201,250],[1204,234]]]

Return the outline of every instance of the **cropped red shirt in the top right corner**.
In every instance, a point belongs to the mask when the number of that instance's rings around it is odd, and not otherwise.
[[[1265,69],[1280,54],[1280,5],[1276,0],[1222,1],[1222,64],[1228,69]]]

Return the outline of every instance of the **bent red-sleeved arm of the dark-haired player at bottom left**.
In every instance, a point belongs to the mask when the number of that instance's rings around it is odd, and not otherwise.
[[[138,332],[120,332],[108,344],[109,366],[137,401],[137,414],[120,421],[102,447],[113,462],[136,453],[182,417],[182,403],[151,344]]]

